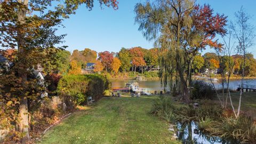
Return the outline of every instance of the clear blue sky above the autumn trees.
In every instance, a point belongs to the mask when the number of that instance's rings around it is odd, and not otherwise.
[[[83,50],[90,48],[97,52],[113,51],[118,52],[121,47],[141,46],[149,49],[153,47],[153,41],[148,42],[138,31],[138,25],[134,25],[134,5],[146,0],[118,0],[119,9],[113,10],[108,7],[100,9],[95,1],[92,11],[85,9],[82,5],[75,15],[63,22],[66,28],[59,29],[59,34],[67,34],[64,45],[72,52],[75,49]],[[225,14],[229,20],[234,20],[234,13],[241,6],[246,12],[252,15],[251,23],[256,26],[255,6],[256,0],[197,0],[199,4],[210,4],[214,12]],[[255,31],[256,33],[256,31]],[[255,39],[256,44],[256,39]],[[256,56],[255,46],[249,49]],[[205,52],[214,52],[207,48]]]

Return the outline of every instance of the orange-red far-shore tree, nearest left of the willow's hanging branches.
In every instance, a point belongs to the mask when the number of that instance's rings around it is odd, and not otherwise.
[[[136,67],[146,66],[146,62],[144,60],[144,54],[142,52],[141,47],[133,47],[130,49],[131,57],[132,57],[132,65],[134,66],[134,75],[136,72]]]

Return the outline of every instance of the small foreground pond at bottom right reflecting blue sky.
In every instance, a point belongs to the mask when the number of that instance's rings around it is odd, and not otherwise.
[[[183,127],[183,128],[182,128]],[[211,135],[204,134],[198,130],[198,125],[196,122],[190,122],[186,124],[177,124],[178,128],[178,139],[183,144],[190,144],[190,143],[203,143],[203,144],[211,144],[211,143],[222,143],[222,144],[229,144],[229,143],[239,143],[236,140],[225,140],[221,139],[220,137],[214,137]]]

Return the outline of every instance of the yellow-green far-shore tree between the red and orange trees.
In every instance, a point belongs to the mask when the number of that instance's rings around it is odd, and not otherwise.
[[[131,68],[131,54],[129,50],[122,47],[122,49],[118,52],[117,58],[121,61],[121,69],[122,71],[129,71]]]

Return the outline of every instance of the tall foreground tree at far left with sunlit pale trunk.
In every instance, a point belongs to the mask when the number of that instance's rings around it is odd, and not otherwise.
[[[62,42],[65,35],[58,36],[55,32],[61,26],[63,18],[68,18],[70,14],[74,14],[79,5],[85,4],[86,8],[90,10],[93,7],[92,0],[58,2],[42,0],[0,1],[0,44],[2,47],[18,48],[13,73],[18,73],[16,78],[20,79],[20,90],[22,90],[18,95],[15,95],[15,99],[19,100],[17,104],[20,116],[19,131],[25,133],[22,143],[26,143],[29,138],[28,98],[30,97],[28,97],[25,88],[28,88],[26,84],[30,70],[41,62],[41,57],[38,57],[38,54],[43,49]],[[98,0],[98,2],[100,5],[117,9],[118,2],[116,0]],[[15,81],[14,78],[13,81]],[[6,95],[2,95],[2,93],[1,96],[1,98],[6,98]],[[4,113],[7,114],[5,110]]]

